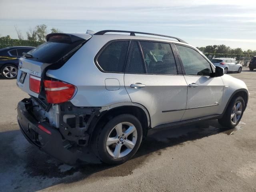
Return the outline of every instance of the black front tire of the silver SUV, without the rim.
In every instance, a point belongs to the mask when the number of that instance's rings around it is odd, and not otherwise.
[[[239,120],[236,123],[234,123],[231,120],[231,113],[232,113],[232,108],[234,107],[234,105],[237,102],[241,102],[242,103],[242,113],[240,115]],[[225,126],[227,128],[234,128],[240,122],[240,120],[241,120],[241,118],[242,118],[242,116],[244,114],[244,106],[245,106],[244,99],[241,96],[236,96],[236,97],[232,98],[232,100],[230,101],[228,107],[226,108],[226,111],[225,111],[223,117],[221,119],[218,119],[218,122],[222,126]]]

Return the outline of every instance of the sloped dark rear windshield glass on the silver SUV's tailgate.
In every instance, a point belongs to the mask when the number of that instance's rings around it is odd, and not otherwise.
[[[86,41],[82,38],[76,39],[76,41],[71,42],[66,39],[50,38],[48,42],[45,42],[44,44],[29,51],[28,54],[32,55],[33,58],[26,57],[26,59],[43,63],[55,63],[78,45]]]

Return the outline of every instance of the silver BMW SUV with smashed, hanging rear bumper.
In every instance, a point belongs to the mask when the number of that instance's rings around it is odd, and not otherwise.
[[[18,124],[67,164],[85,146],[120,164],[152,130],[208,119],[233,128],[246,109],[244,82],[179,38],[105,30],[46,40],[20,58],[17,85],[30,98],[18,103]]]

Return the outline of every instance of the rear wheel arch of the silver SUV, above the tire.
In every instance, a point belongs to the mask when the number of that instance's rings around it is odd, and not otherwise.
[[[120,114],[131,114],[138,118],[142,124],[143,137],[147,135],[148,128],[150,127],[150,116],[148,110],[138,103],[124,102],[113,104],[108,107],[103,107],[100,112],[100,116],[95,117],[88,128],[90,134],[89,142],[92,141],[97,128],[102,128],[109,120]]]

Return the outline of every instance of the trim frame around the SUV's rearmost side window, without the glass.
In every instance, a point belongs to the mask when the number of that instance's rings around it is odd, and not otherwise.
[[[100,54],[104,51],[104,49],[109,45],[111,44],[112,42],[118,42],[118,41],[129,41],[129,44],[128,44],[128,50],[127,50],[127,53],[126,53],[126,58],[125,58],[125,62],[124,62],[124,66],[123,66],[123,72],[109,72],[109,71],[104,71],[100,65],[98,64],[98,57],[100,56]],[[131,44],[131,40],[130,39],[116,39],[116,40],[110,40],[108,41],[102,48],[100,48],[100,50],[98,51],[98,53],[96,54],[96,56],[94,57],[94,64],[96,65],[96,67],[98,68],[98,70],[100,70],[101,72],[103,73],[120,73],[120,74],[124,74],[125,70],[126,70],[126,62],[128,60],[128,53],[129,53],[129,50],[130,50],[130,44]]]

